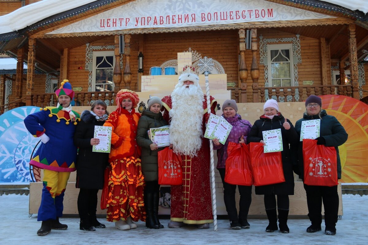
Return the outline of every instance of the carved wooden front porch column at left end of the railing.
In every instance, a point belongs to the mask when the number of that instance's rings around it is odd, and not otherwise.
[[[26,105],[33,105],[33,86],[35,80],[36,39],[28,39],[28,67],[27,67],[27,92]]]

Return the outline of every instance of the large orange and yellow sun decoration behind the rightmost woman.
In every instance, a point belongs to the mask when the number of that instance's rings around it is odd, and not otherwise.
[[[335,116],[348,133],[339,146],[343,183],[368,181],[368,105],[346,96],[323,95],[322,108]]]

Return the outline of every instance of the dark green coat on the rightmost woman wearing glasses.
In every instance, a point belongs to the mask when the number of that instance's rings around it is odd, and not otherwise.
[[[334,117],[327,115],[325,110],[321,112],[321,127],[319,136],[323,137],[326,140],[326,146],[333,146],[336,149],[337,154],[337,178],[341,179],[341,162],[339,156],[339,145],[342,145],[347,140],[347,133],[341,123]],[[301,122],[306,120],[315,120],[320,119],[318,115],[308,116],[304,113],[303,118],[297,120],[295,124],[295,130],[298,133],[300,138],[300,131],[301,131]],[[292,148],[291,148],[292,149]],[[293,150],[292,150],[293,152]],[[294,151],[296,152],[296,151]],[[297,156],[293,158],[294,161],[298,164],[298,171],[299,177],[303,179],[304,177],[304,164],[303,164],[303,141],[299,141],[298,149],[297,149]]]

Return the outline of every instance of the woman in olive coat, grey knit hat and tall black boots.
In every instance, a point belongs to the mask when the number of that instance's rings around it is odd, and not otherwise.
[[[160,98],[153,96],[148,100],[148,109],[142,112],[142,116],[138,122],[137,136],[135,139],[140,147],[142,147],[142,172],[144,175],[144,205],[146,208],[146,227],[151,229],[163,228],[158,219],[159,209],[159,191],[158,183],[158,148],[148,137],[148,130],[151,128],[166,126],[167,123],[163,119],[160,112],[162,102]]]

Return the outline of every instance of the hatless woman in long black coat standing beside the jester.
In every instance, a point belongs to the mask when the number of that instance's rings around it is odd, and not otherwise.
[[[81,219],[80,230],[95,231],[95,228],[105,228],[96,219],[97,192],[102,190],[104,171],[109,165],[109,154],[93,152],[93,145],[99,143],[94,138],[95,126],[102,126],[109,112],[102,100],[93,102],[91,111],[82,112],[74,134],[74,145],[79,147],[77,156],[77,180],[75,187],[79,188],[78,213]]]

